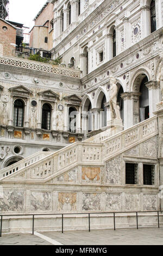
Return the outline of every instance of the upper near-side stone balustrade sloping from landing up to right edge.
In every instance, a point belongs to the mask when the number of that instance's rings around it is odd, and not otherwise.
[[[110,138],[103,141],[105,147],[104,159],[120,154],[128,148],[134,147],[134,144],[145,141],[148,137],[156,134],[158,134],[158,123],[157,117],[154,116],[114,136],[110,136]]]

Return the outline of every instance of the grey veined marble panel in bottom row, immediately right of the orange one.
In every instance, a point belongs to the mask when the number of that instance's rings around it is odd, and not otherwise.
[[[100,211],[101,194],[100,193],[83,193],[83,211]]]

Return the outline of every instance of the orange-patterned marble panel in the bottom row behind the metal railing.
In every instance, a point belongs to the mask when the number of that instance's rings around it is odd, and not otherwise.
[[[76,211],[77,193],[58,193],[58,211]]]

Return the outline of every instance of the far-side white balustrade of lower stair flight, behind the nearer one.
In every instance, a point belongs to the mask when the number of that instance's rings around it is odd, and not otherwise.
[[[14,164],[11,164],[8,167],[3,168],[0,170],[0,178],[3,178],[5,176],[8,176],[9,174],[17,172],[17,170],[22,169],[23,167],[29,166],[29,164],[32,164],[34,162],[39,161],[43,157],[52,154],[52,152],[49,151],[40,151],[36,152],[33,155],[30,155],[26,157],[25,159],[22,159]]]

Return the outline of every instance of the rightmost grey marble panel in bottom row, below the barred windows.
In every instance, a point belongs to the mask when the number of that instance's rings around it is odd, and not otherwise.
[[[157,197],[156,194],[143,194],[143,210],[156,210]]]

